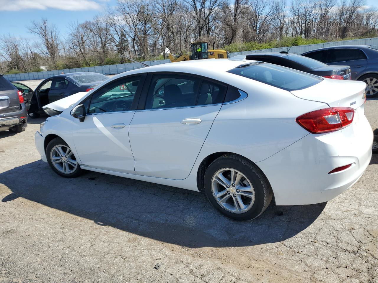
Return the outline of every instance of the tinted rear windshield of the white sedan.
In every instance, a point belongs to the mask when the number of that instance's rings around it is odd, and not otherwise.
[[[308,88],[323,80],[315,75],[270,63],[260,63],[242,68],[234,68],[228,72],[266,83],[277,88],[285,89],[287,91]]]

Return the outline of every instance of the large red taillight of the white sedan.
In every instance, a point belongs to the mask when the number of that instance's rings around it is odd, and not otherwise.
[[[332,132],[353,122],[354,109],[333,107],[316,110],[296,118],[296,122],[313,134]]]

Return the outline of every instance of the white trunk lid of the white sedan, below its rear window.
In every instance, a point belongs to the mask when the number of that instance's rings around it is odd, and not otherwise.
[[[291,93],[302,99],[327,103],[330,107],[357,109],[365,103],[365,87],[364,82],[324,78],[314,86]]]

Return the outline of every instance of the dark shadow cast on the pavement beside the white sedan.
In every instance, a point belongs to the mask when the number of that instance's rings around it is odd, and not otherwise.
[[[28,177],[20,178],[20,172]],[[63,178],[41,160],[3,172],[0,180],[12,191],[3,202],[22,197],[98,225],[189,248],[283,241],[310,226],[326,205],[272,202],[259,218],[234,221],[215,210],[200,192],[95,172]]]

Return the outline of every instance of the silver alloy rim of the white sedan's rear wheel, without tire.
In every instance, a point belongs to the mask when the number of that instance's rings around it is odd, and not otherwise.
[[[215,172],[211,180],[211,191],[218,204],[233,213],[248,211],[255,201],[251,181],[233,168],[222,168]]]

